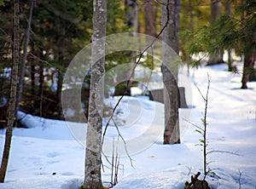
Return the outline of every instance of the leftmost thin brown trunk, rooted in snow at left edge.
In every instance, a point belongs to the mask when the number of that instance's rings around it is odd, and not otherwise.
[[[13,126],[15,124],[15,101],[17,94],[17,83],[18,83],[18,68],[19,68],[19,53],[20,53],[20,10],[19,0],[14,1],[15,13],[14,13],[14,63],[12,69],[12,80],[9,97],[9,117],[5,135],[5,143],[3,148],[3,158],[0,168],[0,182],[4,182],[9,163],[9,150],[11,146],[11,140],[13,135]]]

